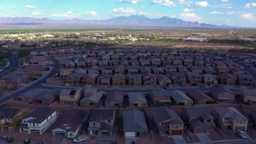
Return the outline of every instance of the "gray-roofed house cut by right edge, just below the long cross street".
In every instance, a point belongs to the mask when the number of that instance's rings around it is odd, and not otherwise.
[[[243,89],[241,97],[243,103],[256,104],[256,88]]]

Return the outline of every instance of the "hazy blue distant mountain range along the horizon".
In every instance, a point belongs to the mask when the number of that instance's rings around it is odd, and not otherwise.
[[[34,18],[34,17],[0,17],[0,24],[10,23],[70,23],[75,24],[88,24],[88,25],[105,25],[105,26],[153,26],[153,27],[218,27],[207,23],[183,21],[176,18],[170,18],[167,16],[159,19],[149,19],[144,15],[131,15],[131,16],[120,16],[113,19],[107,20],[83,20],[83,19],[67,19],[67,20],[51,20],[46,17]],[[222,26],[223,27],[223,26]]]

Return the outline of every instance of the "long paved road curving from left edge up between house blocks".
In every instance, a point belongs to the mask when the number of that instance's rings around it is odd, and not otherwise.
[[[45,77],[43,77],[43,79],[40,79],[39,81],[33,83],[32,85],[28,85],[27,87],[25,87],[24,89],[14,92],[10,95],[4,96],[0,99],[0,104],[4,103],[5,101],[15,98],[17,97],[19,94],[24,93],[26,91],[29,91],[30,89],[33,88],[48,88],[48,89],[53,89],[54,87],[47,87],[47,86],[42,86],[42,81],[46,81],[47,79],[49,79],[50,77],[53,77],[54,75],[56,75],[57,73],[60,73],[60,68],[61,68],[61,64],[59,61],[57,61],[57,59],[55,59],[54,57],[49,57],[52,61],[53,64],[50,64],[50,66],[53,67],[53,70],[50,71],[50,73],[48,75],[46,75]]]

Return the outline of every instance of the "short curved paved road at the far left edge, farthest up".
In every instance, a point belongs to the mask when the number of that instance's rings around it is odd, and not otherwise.
[[[0,72],[0,76],[9,73],[11,70],[13,70],[15,68],[19,68],[19,65],[20,65],[17,55],[13,55],[12,53],[9,53],[9,52],[5,53],[5,54],[9,55],[9,65],[8,65],[8,67],[4,68]]]

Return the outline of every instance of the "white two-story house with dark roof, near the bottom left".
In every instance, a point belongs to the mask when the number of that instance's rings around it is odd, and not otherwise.
[[[20,133],[42,135],[56,121],[56,116],[50,107],[40,107],[22,119]]]

